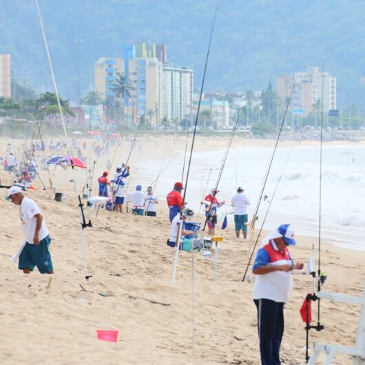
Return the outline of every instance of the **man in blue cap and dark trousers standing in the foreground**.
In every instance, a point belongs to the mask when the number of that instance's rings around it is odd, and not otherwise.
[[[290,271],[302,269],[293,264],[288,247],[295,245],[291,225],[280,225],[269,233],[258,249],[253,273],[253,301],[258,309],[258,335],[262,365],[280,365],[280,344],[284,333],[284,304],[293,288]]]

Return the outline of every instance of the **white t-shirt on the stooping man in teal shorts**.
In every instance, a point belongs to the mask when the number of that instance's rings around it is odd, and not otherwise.
[[[36,231],[36,214],[41,213],[38,205],[34,200],[24,197],[21,200],[20,206],[20,221],[21,228],[25,234],[25,240],[33,244],[34,232]],[[48,231],[47,225],[45,225],[45,220],[42,220],[41,230],[39,231],[39,240],[46,238],[50,232]]]

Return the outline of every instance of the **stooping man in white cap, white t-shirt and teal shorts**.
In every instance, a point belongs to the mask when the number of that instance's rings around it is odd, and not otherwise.
[[[10,187],[6,199],[20,206],[21,227],[25,235],[25,244],[19,250],[19,269],[30,273],[37,267],[40,273],[52,274],[53,265],[50,247],[50,232],[38,205],[24,196],[20,187]]]

